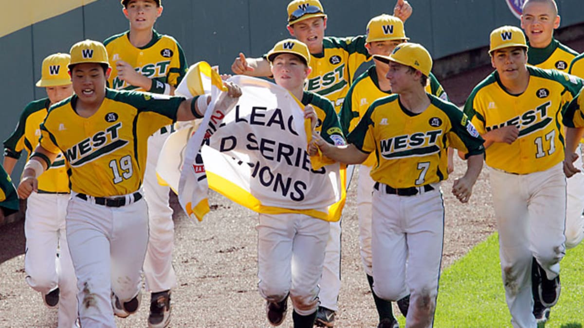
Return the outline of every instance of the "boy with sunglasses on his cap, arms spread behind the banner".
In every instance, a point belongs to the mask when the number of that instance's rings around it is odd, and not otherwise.
[[[411,14],[412,7],[408,2],[398,0],[394,15],[405,21]],[[288,33],[306,44],[310,50],[312,71],[308,75],[304,89],[331,100],[338,114],[357,68],[370,59],[365,48],[366,37],[326,37],[328,18],[319,0],[290,1],[287,6],[287,16]],[[235,74],[272,75],[269,61],[265,57],[246,58],[242,53],[235,58],[231,69]],[[319,295],[321,308],[317,317],[318,326],[333,327],[335,312],[339,308],[340,237],[340,221],[331,222]]]

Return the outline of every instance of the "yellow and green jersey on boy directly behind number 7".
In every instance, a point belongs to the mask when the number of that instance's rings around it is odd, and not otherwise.
[[[436,76],[430,73],[429,80],[430,83],[426,86],[426,92],[442,100],[448,100],[446,92],[444,92]],[[349,132],[353,131],[353,128],[357,126],[361,117],[375,100],[391,94],[391,91],[385,92],[380,89],[376,66],[371,65],[367,71],[355,79],[340,109],[339,120],[343,134],[349,135]],[[363,165],[373,166],[376,163],[375,161],[375,156],[372,153],[363,162]]]

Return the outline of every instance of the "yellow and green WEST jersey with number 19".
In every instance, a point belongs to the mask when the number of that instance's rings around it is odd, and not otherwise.
[[[184,98],[107,89],[87,118],[75,113],[77,100],[52,106],[40,126],[40,145],[67,159],[71,190],[110,197],[140,189],[148,137],[176,120]]]

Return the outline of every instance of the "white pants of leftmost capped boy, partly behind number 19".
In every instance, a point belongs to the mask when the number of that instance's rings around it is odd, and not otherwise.
[[[26,201],[25,271],[26,282],[42,296],[59,288],[58,326],[70,328],[77,320],[77,280],[65,232],[69,198],[69,194],[30,194]]]

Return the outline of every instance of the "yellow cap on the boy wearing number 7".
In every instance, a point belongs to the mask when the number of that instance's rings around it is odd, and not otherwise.
[[[395,47],[391,55],[373,55],[378,61],[389,64],[390,61],[398,64],[413,67],[422,72],[423,75],[429,76],[432,71],[432,56],[421,44],[404,43]]]

